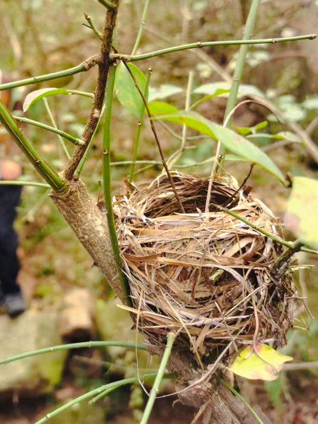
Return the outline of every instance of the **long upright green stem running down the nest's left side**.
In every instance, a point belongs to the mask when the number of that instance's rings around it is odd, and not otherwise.
[[[108,222],[111,245],[113,248],[113,254],[114,254],[115,262],[117,264],[119,277],[121,279],[123,296],[126,299],[126,305],[131,305],[128,280],[126,275],[122,271],[123,264],[122,264],[122,260],[120,256],[120,249],[118,246],[114,213],[113,213],[112,200],[111,200],[110,122],[111,122],[111,109],[112,109],[112,101],[113,101],[115,74],[116,74],[116,66],[111,65],[109,70],[109,75],[108,75],[108,82],[106,87],[106,100],[105,100],[106,113],[105,113],[104,134],[103,134],[103,182],[104,182],[105,206],[107,210],[107,222]]]

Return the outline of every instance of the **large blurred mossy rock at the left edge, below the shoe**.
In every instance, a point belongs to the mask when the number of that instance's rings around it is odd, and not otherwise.
[[[28,310],[15,319],[0,316],[0,359],[61,344],[58,312]],[[50,393],[60,382],[67,351],[50,352],[0,365],[0,393]]]

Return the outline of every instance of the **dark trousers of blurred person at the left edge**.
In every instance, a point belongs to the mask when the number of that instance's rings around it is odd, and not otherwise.
[[[0,290],[2,294],[20,291],[16,283],[20,269],[16,254],[18,238],[13,230],[15,208],[19,204],[20,194],[21,186],[19,185],[0,185]]]

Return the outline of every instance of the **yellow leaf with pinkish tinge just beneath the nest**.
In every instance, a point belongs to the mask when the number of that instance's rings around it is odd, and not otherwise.
[[[250,380],[273,381],[278,377],[284,362],[292,359],[267,344],[256,344],[254,347],[250,344],[239,352],[230,371]]]

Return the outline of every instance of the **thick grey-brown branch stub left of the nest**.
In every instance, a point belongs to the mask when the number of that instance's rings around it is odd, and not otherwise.
[[[85,185],[80,180],[72,180],[66,191],[61,194],[52,193],[51,197],[94,263],[124,302],[106,216],[93,202]]]

